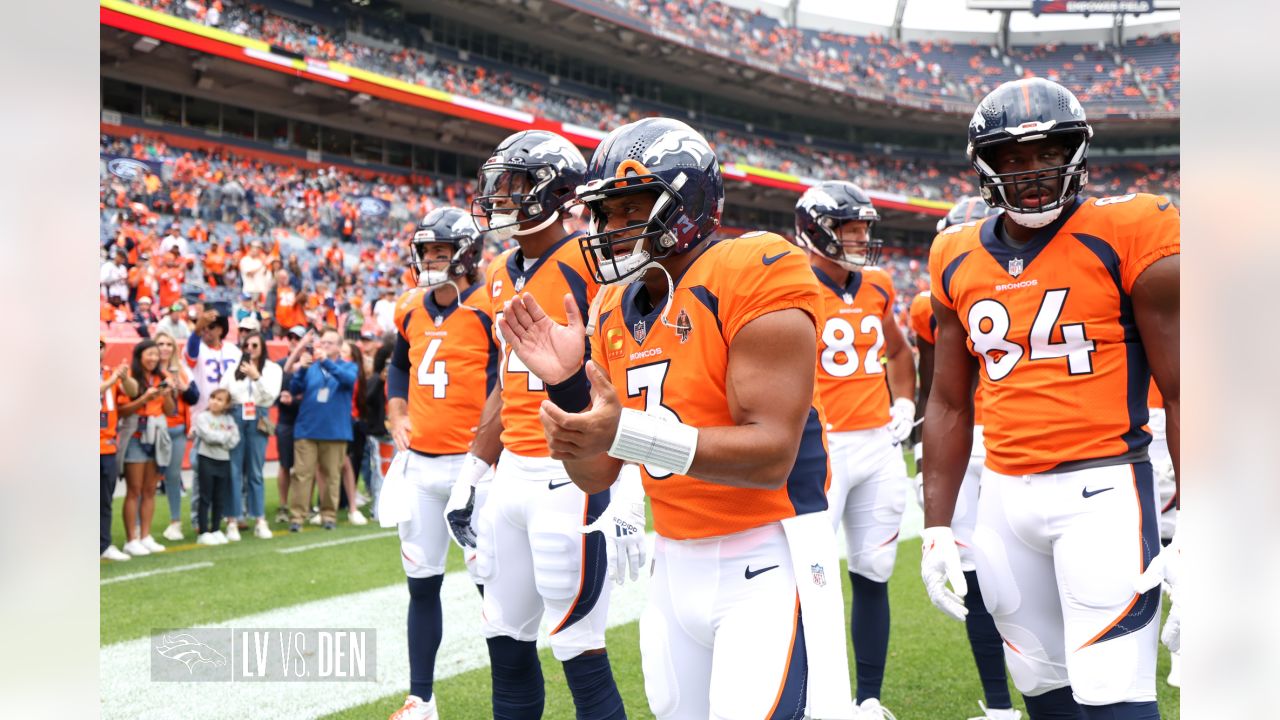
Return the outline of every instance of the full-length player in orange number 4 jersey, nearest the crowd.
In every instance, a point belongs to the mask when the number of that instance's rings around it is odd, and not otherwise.
[[[444,505],[498,372],[489,297],[476,283],[480,249],[471,213],[431,210],[410,241],[410,272],[417,287],[396,301],[387,416],[399,452],[396,471],[410,498],[407,519],[398,523],[410,594],[410,696],[394,720],[436,716],[431,685],[449,548]]]

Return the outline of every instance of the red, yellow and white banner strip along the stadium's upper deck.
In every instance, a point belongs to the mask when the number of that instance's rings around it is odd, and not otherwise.
[[[402,105],[412,105],[511,131],[547,129],[559,133],[575,145],[586,149],[595,149],[605,136],[604,132],[594,128],[539,118],[530,113],[413,85],[340,63],[301,56],[297,53],[274,47],[261,40],[206,27],[157,10],[140,8],[123,0],[100,0],[100,22],[105,26],[154,37],[161,42],[180,45],[229,60],[305,77],[352,92],[365,92]],[[723,55],[722,53],[717,54]],[[788,190],[796,193],[803,193],[810,186],[819,182],[814,178],[733,163],[724,164],[723,172],[724,177],[731,179],[763,187]],[[951,208],[950,202],[923,197],[909,197],[873,190],[868,190],[867,193],[877,205],[892,210],[942,217]]]

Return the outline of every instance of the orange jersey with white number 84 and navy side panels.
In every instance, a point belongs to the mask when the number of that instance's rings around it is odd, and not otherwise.
[[[952,225],[929,252],[933,297],[982,368],[987,466],[1024,475],[1140,451],[1151,372],[1130,292],[1179,252],[1178,209],[1146,193],[1076,199],[1021,250],[998,222]]]

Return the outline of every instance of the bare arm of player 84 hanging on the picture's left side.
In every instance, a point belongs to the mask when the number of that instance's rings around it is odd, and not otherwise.
[[[955,311],[933,301],[937,318],[933,384],[924,413],[924,527],[950,525],[973,450],[973,355]]]

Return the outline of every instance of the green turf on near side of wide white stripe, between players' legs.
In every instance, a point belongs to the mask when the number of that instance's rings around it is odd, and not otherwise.
[[[900,720],[966,719],[978,714],[982,684],[969,651],[964,624],[956,623],[936,610],[919,580],[920,541],[904,541],[899,546],[897,566],[890,582],[892,626],[890,653],[886,666],[884,688],[881,697],[886,707]],[[844,568],[844,562],[841,562]],[[845,605],[851,602],[849,574],[842,573]],[[1167,607],[1166,607],[1167,610]],[[609,657],[613,675],[632,719],[653,717],[644,701],[644,676],[640,670],[639,624],[630,623],[608,633]],[[548,719],[573,717],[573,706],[564,673],[550,653],[541,652],[543,675],[547,679]],[[852,657],[850,657],[852,666]],[[1161,646],[1156,687],[1161,716],[1179,717],[1179,691],[1170,688],[1164,678],[1169,675],[1169,651]],[[850,671],[852,678],[852,671]],[[406,680],[407,682],[407,680]],[[1012,689],[1012,683],[1010,683]],[[492,717],[489,705],[489,669],[483,667],[435,684],[435,697],[440,715],[448,720],[481,720]],[[1014,692],[1014,705],[1023,710],[1021,698]],[[381,700],[351,707],[325,720],[364,720],[385,717],[404,702],[398,693]],[[1024,715],[1025,717],[1025,715]]]

